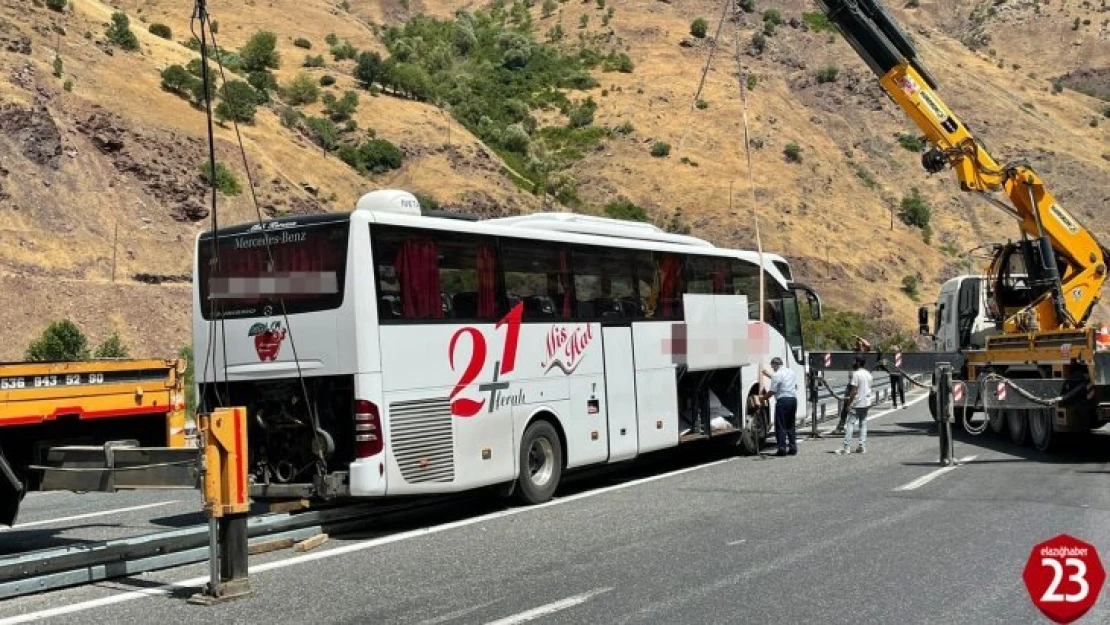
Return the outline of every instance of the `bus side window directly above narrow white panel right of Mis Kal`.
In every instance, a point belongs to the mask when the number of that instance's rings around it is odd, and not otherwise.
[[[601,248],[575,248],[575,311],[578,319],[634,319],[643,316],[635,296],[635,270],[632,251]]]

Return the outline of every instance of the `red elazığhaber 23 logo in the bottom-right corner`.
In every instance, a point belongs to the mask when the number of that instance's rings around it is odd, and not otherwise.
[[[1107,572],[1094,545],[1060,534],[1033,547],[1021,577],[1037,609],[1071,623],[1098,601]]]

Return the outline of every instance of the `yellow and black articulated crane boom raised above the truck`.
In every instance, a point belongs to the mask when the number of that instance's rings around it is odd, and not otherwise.
[[[1020,223],[1022,241],[1000,246],[991,261],[991,293],[1003,333],[1077,329],[1087,323],[1107,280],[1110,252],[1068,213],[1026,163],[1000,164],[937,94],[937,83],[909,38],[879,0],[817,0],[845,40],[879,77],[879,83],[925,134],[921,164],[936,173],[951,167],[963,191],[1001,192]],[[1003,295],[1021,254],[1028,296]]]

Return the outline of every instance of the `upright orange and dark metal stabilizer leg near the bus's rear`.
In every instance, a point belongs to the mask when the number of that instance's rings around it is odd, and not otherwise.
[[[199,415],[204,442],[204,511],[209,516],[211,579],[189,603],[213,605],[249,595],[246,409]]]

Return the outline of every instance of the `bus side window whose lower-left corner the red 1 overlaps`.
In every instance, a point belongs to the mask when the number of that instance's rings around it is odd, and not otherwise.
[[[524,321],[571,319],[571,264],[566,248],[518,239],[501,240],[505,295],[524,303]]]

